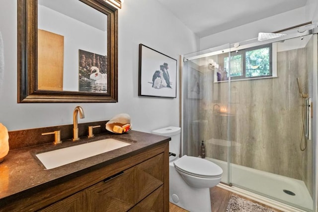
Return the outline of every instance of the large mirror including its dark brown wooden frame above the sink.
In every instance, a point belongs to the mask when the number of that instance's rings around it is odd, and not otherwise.
[[[115,103],[118,10],[104,0],[18,0],[18,103]]]

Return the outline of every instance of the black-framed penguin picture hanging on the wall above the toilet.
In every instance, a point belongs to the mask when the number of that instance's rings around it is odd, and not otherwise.
[[[138,96],[176,98],[177,60],[139,44]]]

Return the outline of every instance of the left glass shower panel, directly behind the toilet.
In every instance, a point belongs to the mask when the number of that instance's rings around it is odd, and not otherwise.
[[[230,182],[230,81],[224,60],[230,44],[184,55],[183,153],[205,157],[223,169],[222,182]],[[202,147],[205,154],[202,154]]]

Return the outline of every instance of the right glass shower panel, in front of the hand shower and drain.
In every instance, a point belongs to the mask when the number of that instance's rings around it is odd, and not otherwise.
[[[312,211],[317,34],[250,42],[231,48],[231,183]]]

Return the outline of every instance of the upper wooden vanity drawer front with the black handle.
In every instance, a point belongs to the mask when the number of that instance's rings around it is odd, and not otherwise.
[[[109,181],[85,189],[87,211],[130,210],[163,184],[163,165],[163,154],[159,154]]]

